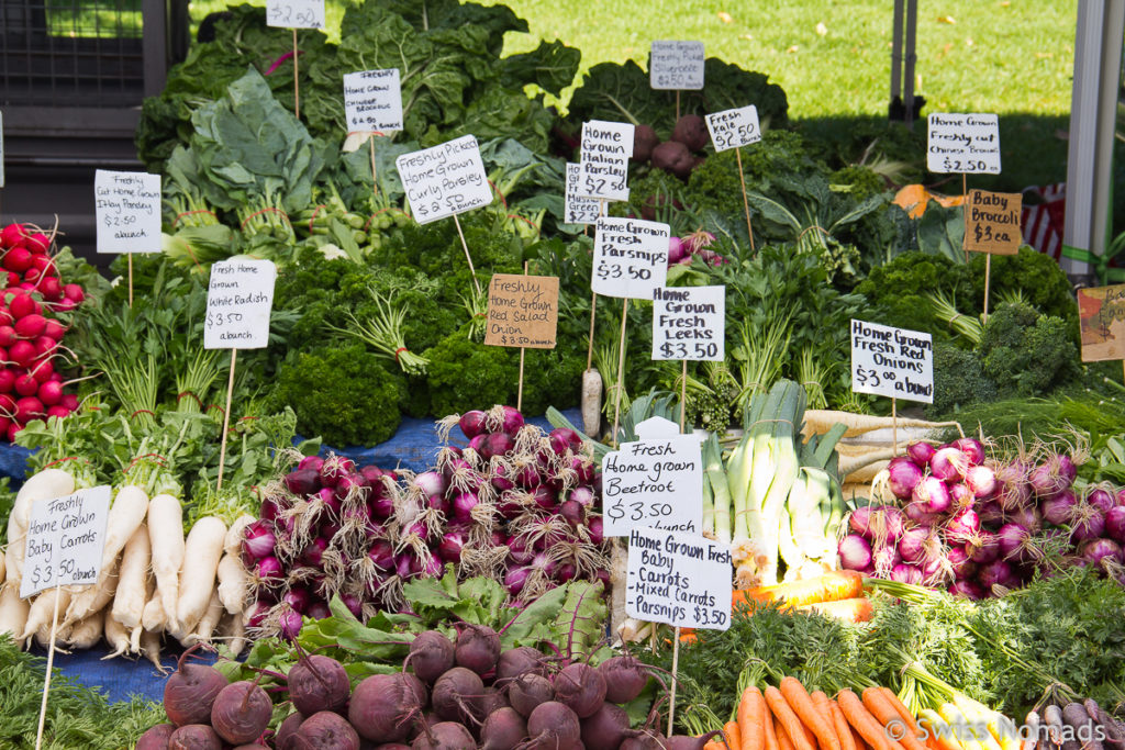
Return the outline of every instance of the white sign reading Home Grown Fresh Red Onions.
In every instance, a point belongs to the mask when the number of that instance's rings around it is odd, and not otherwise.
[[[852,390],[934,403],[934,343],[928,333],[852,320]]]

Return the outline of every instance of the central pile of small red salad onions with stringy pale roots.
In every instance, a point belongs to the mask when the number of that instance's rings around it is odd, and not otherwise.
[[[443,419],[443,439],[453,425],[468,444],[443,448],[433,470],[310,457],[267,488],[243,542],[252,634],[292,639],[335,595],[363,621],[397,612],[403,584],[447,564],[502,582],[513,602],[576,579],[609,585],[600,476],[578,435],[507,406]]]

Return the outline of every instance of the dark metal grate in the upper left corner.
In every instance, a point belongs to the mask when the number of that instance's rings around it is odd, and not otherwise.
[[[144,96],[141,2],[0,0],[0,101],[135,106]]]

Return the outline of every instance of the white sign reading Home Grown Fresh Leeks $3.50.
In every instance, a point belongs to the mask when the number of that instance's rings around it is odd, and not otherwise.
[[[721,362],[727,288],[676,287],[652,292],[652,359]]]

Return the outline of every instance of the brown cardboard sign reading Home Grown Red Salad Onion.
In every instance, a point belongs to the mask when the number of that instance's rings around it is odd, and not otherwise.
[[[486,344],[555,349],[558,322],[558,277],[514,273],[493,275],[488,283]]]

